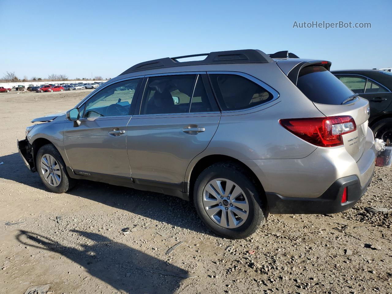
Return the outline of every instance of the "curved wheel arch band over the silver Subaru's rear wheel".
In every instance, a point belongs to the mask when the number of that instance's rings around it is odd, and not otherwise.
[[[227,155],[222,155],[222,154],[211,154],[207,155],[203,158],[200,158],[196,164],[192,167],[191,171],[189,172],[189,176],[186,178],[186,182],[188,183],[188,192],[189,192],[189,200],[193,201],[193,188],[194,184],[196,182],[197,177],[200,175],[202,171],[204,171],[207,167],[218,163],[218,162],[229,162],[229,163],[234,163],[246,171],[249,176],[252,178],[258,189],[260,189],[261,194],[265,195],[265,191],[263,188],[262,183],[260,182],[259,178],[256,176],[256,174],[250,169],[249,166],[247,166],[245,163],[241,162],[240,160],[227,156]]]

